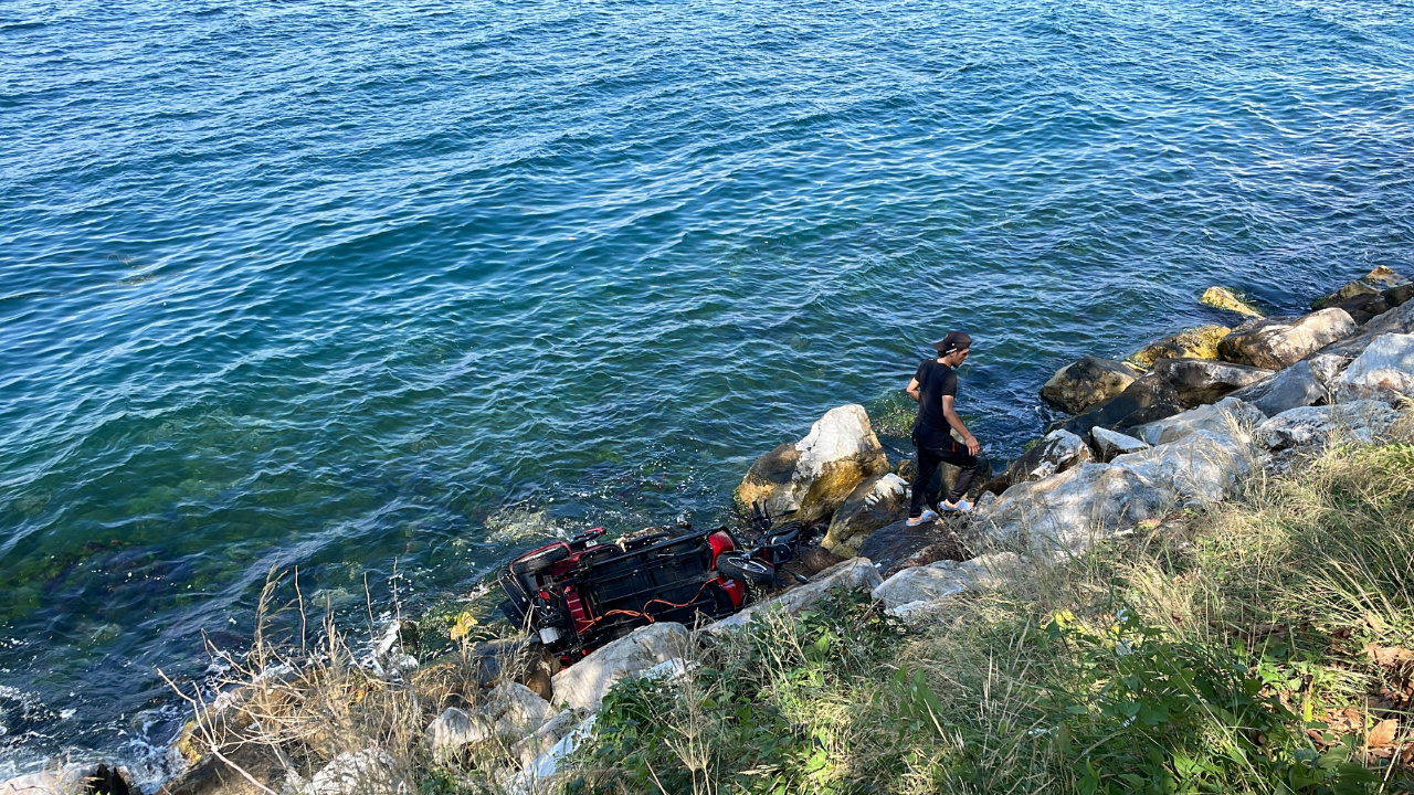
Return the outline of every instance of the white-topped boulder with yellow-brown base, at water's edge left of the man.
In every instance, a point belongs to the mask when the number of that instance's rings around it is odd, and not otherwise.
[[[799,511],[796,519],[829,519],[871,475],[888,472],[888,457],[864,406],[830,409],[795,444],[782,444],[751,465],[741,501],[766,504],[772,515]]]

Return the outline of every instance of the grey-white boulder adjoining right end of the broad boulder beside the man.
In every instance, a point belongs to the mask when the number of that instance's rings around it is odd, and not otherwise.
[[[1164,495],[1165,502],[1202,505],[1222,501],[1251,471],[1251,436],[1193,430],[1176,441],[1117,457],[1117,470],[1134,472]]]

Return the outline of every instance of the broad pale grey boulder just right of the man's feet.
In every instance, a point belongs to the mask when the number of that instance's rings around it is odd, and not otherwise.
[[[1035,550],[1083,549],[1100,538],[1161,515],[1164,494],[1140,475],[1110,464],[1080,464],[1007,489],[977,528],[1001,543]]]

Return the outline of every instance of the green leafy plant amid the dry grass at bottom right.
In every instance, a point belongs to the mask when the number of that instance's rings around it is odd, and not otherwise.
[[[1104,632],[1059,613],[1042,638],[1073,663],[1049,706],[1055,750],[1086,795],[1357,794],[1379,781],[1352,761],[1352,741],[1311,745],[1273,689],[1298,682],[1270,656],[1253,666],[1233,649],[1175,641],[1130,610]]]

